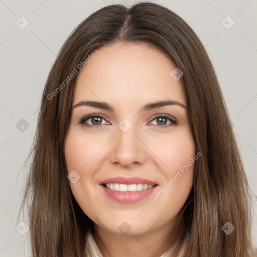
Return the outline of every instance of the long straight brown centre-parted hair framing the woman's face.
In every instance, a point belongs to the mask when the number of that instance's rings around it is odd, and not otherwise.
[[[64,142],[76,76],[66,79],[79,72],[78,64],[88,55],[115,42],[146,43],[183,72],[190,126],[202,157],[184,205],[184,240],[177,254],[249,257],[249,186],[215,71],[190,26],[168,8],[147,2],[130,8],[109,5],[94,12],[71,33],[52,66],[21,205],[28,203],[33,256],[85,256],[86,234],[94,223],[76,203],[67,179]],[[235,227],[229,235],[221,229],[226,222]]]

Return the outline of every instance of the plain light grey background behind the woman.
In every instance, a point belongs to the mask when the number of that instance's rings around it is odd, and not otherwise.
[[[234,123],[250,186],[255,194],[257,160],[257,1],[171,0],[153,1],[180,15],[197,33],[216,70]],[[97,9],[132,1],[0,0],[1,51],[1,198],[0,256],[28,256],[28,234],[16,225],[24,185],[21,167],[35,134],[43,87],[56,55],[71,31]],[[28,27],[16,21],[25,16]],[[230,16],[235,25],[226,29]],[[226,20],[225,20],[226,22]],[[230,25],[230,21],[226,22]],[[23,23],[24,24],[24,23]],[[16,124],[25,119],[21,132]],[[26,175],[27,169],[25,170]],[[252,234],[257,244],[257,198],[253,196]]]

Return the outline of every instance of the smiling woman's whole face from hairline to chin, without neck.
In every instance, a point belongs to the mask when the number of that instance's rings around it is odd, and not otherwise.
[[[72,193],[105,231],[171,228],[192,188],[195,160],[181,79],[166,55],[145,44],[98,50],[75,85],[65,141]],[[178,104],[155,104],[162,101]]]

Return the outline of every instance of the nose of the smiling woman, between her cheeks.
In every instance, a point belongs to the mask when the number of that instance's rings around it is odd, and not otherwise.
[[[117,135],[112,141],[110,161],[122,166],[143,164],[146,160],[147,147],[136,125],[125,132],[117,128]]]

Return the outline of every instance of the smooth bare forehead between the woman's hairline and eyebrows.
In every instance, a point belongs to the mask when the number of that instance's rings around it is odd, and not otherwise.
[[[131,106],[151,99],[186,105],[181,80],[170,75],[175,66],[160,50],[143,43],[115,43],[98,51],[77,75],[73,105],[102,100]]]

